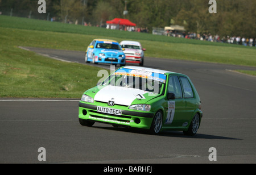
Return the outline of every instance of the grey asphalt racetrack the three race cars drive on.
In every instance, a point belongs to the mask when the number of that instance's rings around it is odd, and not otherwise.
[[[26,49],[85,64],[84,52]],[[79,99],[1,98],[0,163],[256,163],[256,77],[233,71],[256,68],[149,57],[144,66],[191,78],[203,110],[195,136],[180,131],[149,135],[102,123],[83,127]],[[40,147],[46,161],[38,159]],[[216,161],[209,160],[212,147]]]

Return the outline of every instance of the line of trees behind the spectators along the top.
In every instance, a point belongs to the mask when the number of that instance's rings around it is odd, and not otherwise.
[[[256,37],[255,0],[218,0],[217,13],[209,13],[209,0],[46,0],[46,14],[38,13],[38,0],[0,0],[4,15],[36,19],[55,17],[101,26],[106,20],[127,18],[138,27],[184,26],[189,32],[220,36]],[[123,15],[123,11],[128,11]]]

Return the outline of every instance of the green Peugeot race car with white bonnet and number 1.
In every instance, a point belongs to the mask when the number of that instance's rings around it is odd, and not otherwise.
[[[158,134],[163,130],[195,135],[203,113],[199,94],[184,74],[124,66],[98,86],[85,91],[79,122],[134,127]]]

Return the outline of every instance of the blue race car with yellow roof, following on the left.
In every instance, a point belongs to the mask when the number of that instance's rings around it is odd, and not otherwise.
[[[125,53],[117,41],[94,39],[85,52],[85,62],[120,64],[125,66]]]

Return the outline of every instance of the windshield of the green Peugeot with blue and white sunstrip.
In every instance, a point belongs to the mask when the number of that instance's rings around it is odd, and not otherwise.
[[[166,83],[166,75],[142,70],[121,68],[114,72],[103,85],[141,89],[159,94]]]

